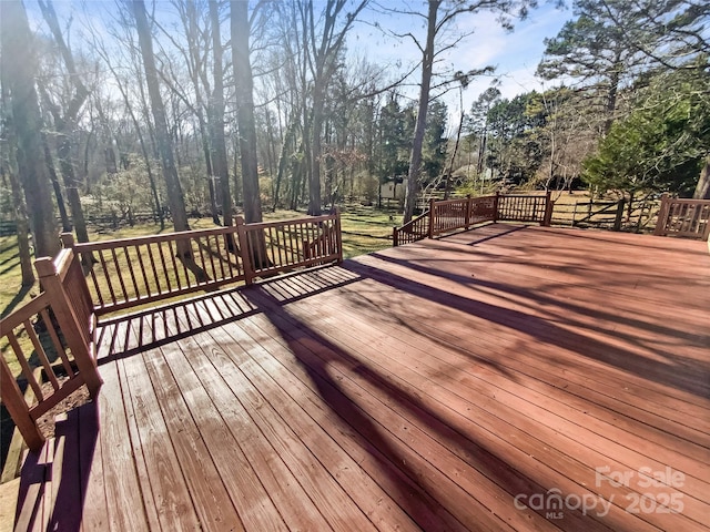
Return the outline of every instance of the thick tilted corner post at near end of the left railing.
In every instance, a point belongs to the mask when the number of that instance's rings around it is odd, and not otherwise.
[[[67,345],[71,349],[89,393],[91,397],[95,397],[103,380],[99,375],[97,361],[91,355],[91,347],[87,342],[88,335],[81,331],[82,324],[77,318],[77,314],[67,296],[54,262],[49,257],[40,257],[34,260],[34,269],[37,269],[42,288],[49,296],[59,329],[64,335]],[[87,325],[84,324],[83,326]]]

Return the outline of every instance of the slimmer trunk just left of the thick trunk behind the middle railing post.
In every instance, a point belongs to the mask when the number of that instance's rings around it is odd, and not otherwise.
[[[222,190],[222,219],[225,226],[232,225],[232,194],[230,193],[230,172],[226,160],[226,140],[224,137],[224,76],[222,71],[222,39],[220,37],[220,11],[216,0],[210,0],[212,20],[212,54],[214,58],[214,91],[212,93],[212,113],[210,125],[212,134],[212,165],[214,175],[220,177]]]

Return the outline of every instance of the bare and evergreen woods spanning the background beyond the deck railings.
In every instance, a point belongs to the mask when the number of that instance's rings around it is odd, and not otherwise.
[[[236,211],[254,223],[262,208],[374,203],[393,181],[406,184],[405,222],[433,191],[708,197],[710,7],[700,0],[575,0],[545,41],[538,75],[551,89],[507,99],[494,85],[448,123],[446,94],[494,70],[446,70],[442,58],[467,37],[457,23],[494,13],[513,28],[534,7],[0,2],[0,215],[18,223],[23,282],[31,245],[37,256],[59,249],[55,216],[87,242],[97,216],[230,226]],[[418,64],[351,53],[353,28],[379,18],[412,22],[374,25],[416,48]]]

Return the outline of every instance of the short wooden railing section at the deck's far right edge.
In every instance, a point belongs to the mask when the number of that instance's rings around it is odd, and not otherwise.
[[[653,234],[707,241],[710,236],[710,200],[678,200],[663,194]]]

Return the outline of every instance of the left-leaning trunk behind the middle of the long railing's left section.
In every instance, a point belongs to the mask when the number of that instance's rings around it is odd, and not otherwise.
[[[138,31],[139,45],[143,58],[143,68],[145,70],[145,81],[148,85],[148,94],[151,101],[151,110],[153,113],[153,122],[155,125],[155,142],[160,152],[162,163],[163,178],[168,190],[168,202],[170,212],[173,217],[173,227],[175,231],[187,231],[187,213],[185,211],[185,200],[178,176],[178,168],[173,158],[173,150],[168,132],[168,121],[165,119],[165,108],[160,94],[160,85],[158,82],[158,71],[155,69],[155,58],[153,55],[153,43],[151,32],[148,25],[148,17],[145,16],[145,4],[143,0],[132,1],[133,14],[135,17],[135,27]],[[181,241],[178,254],[182,258],[189,258],[192,253],[189,243]]]

